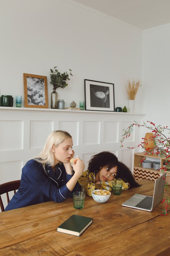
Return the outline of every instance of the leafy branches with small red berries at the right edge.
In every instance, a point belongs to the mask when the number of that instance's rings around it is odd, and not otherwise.
[[[168,126],[161,126],[161,125],[155,125],[153,122],[147,121],[143,122],[142,124],[139,124],[138,122],[134,121],[133,124],[131,124],[128,128],[123,129],[124,134],[122,135],[121,147],[123,147],[123,141],[128,138],[131,135],[131,132],[133,131],[133,127],[144,127],[149,129],[153,136],[151,135],[149,139],[142,138],[142,142],[135,146],[135,147],[142,147],[145,155],[147,154],[153,154],[156,153],[158,156],[165,158],[165,164],[163,167],[160,167],[160,172],[164,173],[166,171],[170,170],[170,128]],[[151,133],[151,134],[152,134]],[[154,142],[154,148],[149,146],[149,141]],[[128,147],[128,148],[135,148],[135,147]],[[146,157],[144,157],[143,160],[145,160]],[[164,209],[162,210],[163,216],[167,216],[167,209],[168,209],[168,203],[170,202],[170,199],[167,196],[166,191],[168,190],[168,183],[165,182],[165,194],[162,203],[165,205]]]

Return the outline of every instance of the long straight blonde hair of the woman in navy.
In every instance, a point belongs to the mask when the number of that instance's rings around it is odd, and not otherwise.
[[[55,130],[52,131],[44,145],[43,150],[37,157],[33,159],[39,163],[43,164],[43,168],[45,170],[45,165],[48,164],[49,166],[54,165],[54,155],[52,153],[52,146],[54,145],[57,147],[60,143],[62,143],[65,139],[72,138],[71,135],[67,131]]]

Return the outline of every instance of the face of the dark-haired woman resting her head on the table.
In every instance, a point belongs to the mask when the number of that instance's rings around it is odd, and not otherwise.
[[[113,167],[112,169],[108,170],[107,166],[104,166],[100,169],[99,171],[99,179],[100,181],[112,181],[113,179],[115,179],[117,175],[117,166]]]

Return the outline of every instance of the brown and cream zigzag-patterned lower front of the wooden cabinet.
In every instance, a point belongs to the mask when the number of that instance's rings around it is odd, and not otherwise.
[[[155,181],[157,178],[160,177],[160,173],[154,172],[154,171],[148,171],[148,170],[141,170],[138,168],[134,168],[133,175],[135,180],[140,181],[143,179]]]

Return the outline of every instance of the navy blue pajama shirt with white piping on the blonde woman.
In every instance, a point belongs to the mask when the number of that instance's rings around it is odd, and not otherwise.
[[[72,192],[81,191],[78,182],[72,191],[67,188],[66,183],[73,175],[66,173],[63,163],[56,165],[56,174],[50,166],[45,169],[34,159],[26,163],[22,168],[20,187],[5,211],[48,201],[61,203],[72,196]]]

